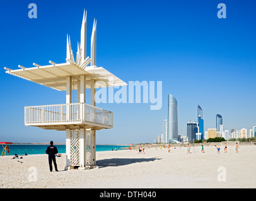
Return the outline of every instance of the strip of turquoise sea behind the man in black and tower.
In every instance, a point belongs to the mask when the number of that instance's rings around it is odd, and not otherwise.
[[[57,145],[54,144],[59,153],[66,153],[66,145]],[[45,154],[45,150],[49,145],[42,145],[42,144],[10,144],[9,145],[9,156],[13,156],[15,154],[21,156],[27,153],[28,155],[41,155]],[[120,145],[96,145],[96,151],[112,151],[117,148],[117,150],[121,150],[122,147],[127,146],[120,146]],[[1,153],[3,151],[3,147],[0,147]],[[6,153],[7,155],[7,153]]]

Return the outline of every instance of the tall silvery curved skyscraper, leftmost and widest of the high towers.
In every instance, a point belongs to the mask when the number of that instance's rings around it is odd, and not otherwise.
[[[168,94],[168,142],[178,140],[178,105],[172,94]]]

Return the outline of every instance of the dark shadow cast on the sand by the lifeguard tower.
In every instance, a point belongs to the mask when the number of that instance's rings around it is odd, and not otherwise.
[[[155,160],[161,160],[161,158],[109,158],[96,161],[96,165],[99,166],[100,168],[105,168],[107,166],[122,166],[129,165],[132,163],[151,162]]]

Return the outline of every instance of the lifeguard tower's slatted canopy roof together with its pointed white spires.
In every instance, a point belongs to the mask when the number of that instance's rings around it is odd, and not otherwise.
[[[86,58],[86,24],[87,12],[84,10],[81,27],[81,43],[78,43],[78,52],[76,55],[74,55],[71,48],[70,36],[67,35],[66,63],[49,61],[50,65],[45,66],[33,63],[35,67],[32,68],[19,65],[18,67],[21,69],[18,70],[11,70],[5,67],[4,69],[7,70],[6,73],[56,90],[66,90],[66,77],[78,77],[80,75],[86,75],[86,89],[90,88],[90,82],[87,82],[90,80],[96,81],[96,88],[127,85],[105,68],[96,67],[96,20],[93,22],[93,31],[91,34],[91,58]],[[90,63],[91,65],[88,66]]]

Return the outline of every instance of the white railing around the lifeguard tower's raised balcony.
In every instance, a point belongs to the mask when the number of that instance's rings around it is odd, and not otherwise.
[[[96,123],[113,126],[113,113],[84,103],[25,107],[25,125]]]

